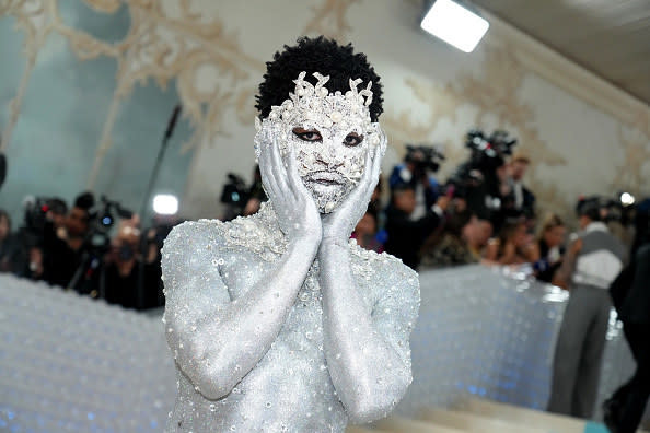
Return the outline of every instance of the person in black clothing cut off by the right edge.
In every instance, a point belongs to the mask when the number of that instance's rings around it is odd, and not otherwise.
[[[605,424],[613,433],[637,430],[650,396],[650,242],[637,249],[635,259],[616,278],[610,293],[637,370],[603,403]]]

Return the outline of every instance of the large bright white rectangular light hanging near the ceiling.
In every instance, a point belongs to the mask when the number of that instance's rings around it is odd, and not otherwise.
[[[452,0],[436,0],[420,26],[461,51],[472,52],[490,24]]]

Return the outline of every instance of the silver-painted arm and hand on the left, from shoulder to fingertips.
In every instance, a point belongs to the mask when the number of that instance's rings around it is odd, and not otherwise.
[[[289,239],[285,255],[262,273],[258,261],[220,248],[209,223],[183,224],[170,234],[163,253],[166,337],[178,367],[209,399],[228,395],[276,340],[321,242],[318,211],[291,157],[285,169],[277,145],[262,150],[260,169],[278,220]],[[297,182],[298,180],[298,182]],[[196,229],[196,230],[195,230]],[[216,266],[220,254],[232,271],[258,276],[243,296],[231,300]]]

